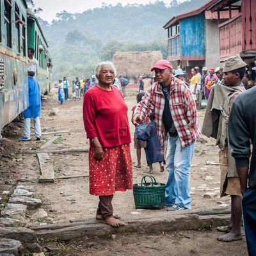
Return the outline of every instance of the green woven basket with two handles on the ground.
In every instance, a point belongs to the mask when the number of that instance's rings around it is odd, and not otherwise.
[[[146,182],[149,177],[151,182]],[[158,185],[158,186],[156,186]],[[140,186],[133,184],[133,196],[136,209],[161,209],[164,205],[166,184],[157,183],[152,175],[144,175]]]

